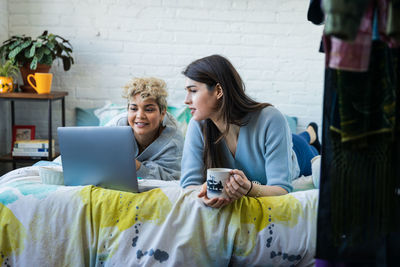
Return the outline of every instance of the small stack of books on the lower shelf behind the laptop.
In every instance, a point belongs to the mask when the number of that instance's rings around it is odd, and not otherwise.
[[[52,140],[52,152],[55,154],[54,139]],[[17,140],[14,143],[13,157],[48,157],[49,141],[47,139]]]

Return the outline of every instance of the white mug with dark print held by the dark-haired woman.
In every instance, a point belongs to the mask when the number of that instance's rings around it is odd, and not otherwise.
[[[207,197],[229,198],[225,192],[226,181],[231,176],[232,169],[211,168],[207,170]]]

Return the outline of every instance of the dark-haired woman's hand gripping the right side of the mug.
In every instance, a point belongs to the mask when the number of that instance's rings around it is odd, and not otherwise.
[[[233,201],[246,195],[251,188],[251,181],[246,175],[237,169],[231,171],[231,176],[226,182],[225,191],[229,198]]]

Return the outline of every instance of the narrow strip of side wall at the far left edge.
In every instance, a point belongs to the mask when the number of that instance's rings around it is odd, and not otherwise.
[[[0,44],[8,38],[8,2],[0,0]],[[0,101],[0,155],[6,154],[11,145],[10,121],[8,119],[9,104]],[[0,164],[0,175],[6,170],[4,164]]]

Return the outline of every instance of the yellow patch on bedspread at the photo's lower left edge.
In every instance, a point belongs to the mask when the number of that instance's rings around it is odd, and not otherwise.
[[[23,250],[26,230],[12,211],[1,203],[0,214],[0,264],[3,265],[11,253],[18,255]]]

